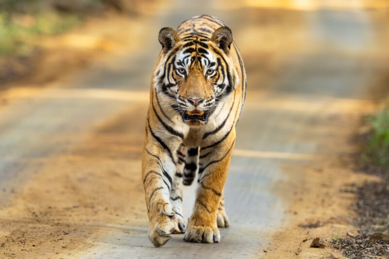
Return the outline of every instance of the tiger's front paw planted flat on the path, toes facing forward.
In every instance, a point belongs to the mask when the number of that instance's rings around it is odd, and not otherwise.
[[[195,243],[219,243],[220,232],[217,227],[189,226],[186,229],[184,240]]]

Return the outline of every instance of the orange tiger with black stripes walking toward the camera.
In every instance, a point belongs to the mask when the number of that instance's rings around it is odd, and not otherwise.
[[[195,243],[219,243],[229,227],[224,185],[235,126],[246,98],[246,70],[229,27],[202,15],[159,31],[142,151],[142,180],[156,247],[171,234]],[[195,205],[183,218],[182,187],[197,174]]]

